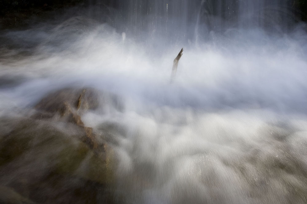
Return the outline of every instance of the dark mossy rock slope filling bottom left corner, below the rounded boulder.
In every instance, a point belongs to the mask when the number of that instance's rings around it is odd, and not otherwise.
[[[0,125],[5,127],[0,133],[0,184],[27,201],[19,203],[113,203],[115,159],[103,138],[96,138],[94,150],[75,124],[1,118]],[[1,196],[0,203],[10,198]]]

